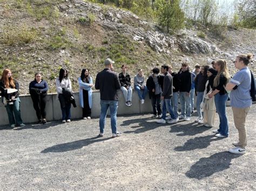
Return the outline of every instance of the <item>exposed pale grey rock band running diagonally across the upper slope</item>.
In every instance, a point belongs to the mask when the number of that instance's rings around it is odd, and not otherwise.
[[[77,13],[75,9],[79,8]],[[74,10],[73,10],[74,9]],[[193,37],[190,32],[181,31],[178,37],[158,30],[156,25],[139,19],[129,11],[104,8],[96,4],[77,0],[75,7],[63,5],[59,8],[63,13],[73,17],[87,17],[88,12],[96,15],[99,25],[108,30],[119,31],[131,36],[133,40],[145,41],[154,51],[169,54],[172,48],[179,48],[184,53],[215,53],[218,48],[206,41]],[[77,15],[76,15],[77,14]]]

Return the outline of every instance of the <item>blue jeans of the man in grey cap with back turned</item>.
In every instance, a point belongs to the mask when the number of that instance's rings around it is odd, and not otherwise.
[[[104,133],[107,109],[109,108],[112,133],[117,133],[117,105],[118,101],[116,100],[100,100],[99,131],[101,133]]]

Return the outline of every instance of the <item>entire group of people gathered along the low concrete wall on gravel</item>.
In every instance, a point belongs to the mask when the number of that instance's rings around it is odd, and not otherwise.
[[[239,72],[230,80],[227,63],[225,60],[212,62],[212,67],[196,65],[194,71],[190,72],[187,62],[181,63],[178,73],[173,72],[171,66],[153,68],[152,74],[145,81],[143,70],[139,69],[134,76],[134,89],[136,89],[141,104],[144,104],[145,97],[149,93],[153,108],[153,116],[160,118],[157,123],[175,124],[179,120],[191,120],[191,113],[194,110],[194,95],[197,95],[196,122],[206,127],[213,127],[215,113],[219,115],[219,128],[214,130],[215,136],[219,138],[228,137],[228,121],[226,117],[226,102],[230,93],[231,106],[234,115],[235,127],[239,132],[239,142],[233,143],[235,148],[229,150],[232,153],[245,153],[246,130],[245,119],[252,104],[250,92],[255,89],[254,77],[247,65],[252,58],[251,54],[239,55],[235,60],[235,67]],[[117,131],[117,90],[121,89],[125,105],[132,105],[131,75],[127,73],[125,65],[118,75],[113,72],[111,59],[104,61],[105,68],[96,77],[95,88],[100,90],[100,118],[99,137],[104,136],[104,126],[107,109],[110,108],[112,137],[118,137],[122,133]],[[159,74],[161,73],[161,74]],[[79,103],[83,108],[83,119],[91,119],[92,108],[92,87],[93,81],[88,69],[82,69],[79,83]],[[19,84],[12,77],[10,69],[4,69],[0,81],[1,96],[5,104],[11,128],[24,126],[21,119],[19,106]],[[68,70],[61,68],[56,79],[57,98],[62,111],[62,122],[71,121],[71,104],[76,107],[75,98],[72,95],[71,80],[68,77]],[[49,90],[48,84],[42,79],[41,73],[35,74],[35,79],[29,84],[29,92],[32,98],[33,107],[36,110],[38,123],[46,123],[46,95]],[[179,115],[178,104],[181,104]],[[203,112],[204,111],[204,112]],[[169,112],[170,116],[167,116]]]

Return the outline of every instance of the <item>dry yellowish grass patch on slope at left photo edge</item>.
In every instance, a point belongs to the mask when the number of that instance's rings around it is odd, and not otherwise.
[[[0,36],[1,42],[9,46],[15,44],[23,45],[29,44],[37,37],[36,29],[31,29],[28,26],[6,26],[4,27],[3,33]]]

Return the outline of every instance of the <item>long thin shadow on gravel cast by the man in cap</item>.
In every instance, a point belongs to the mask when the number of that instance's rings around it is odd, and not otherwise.
[[[109,140],[109,139],[112,139],[112,137],[99,138],[97,136],[97,137],[92,137],[92,138],[83,139],[83,140],[76,140],[75,142],[63,143],[63,144],[51,146],[49,148],[45,148],[45,150],[41,151],[41,153],[67,152],[67,151],[77,150],[84,146],[97,143],[97,142],[104,142],[104,140]]]

